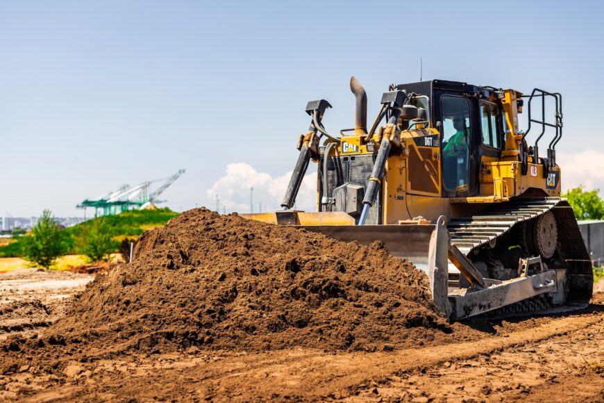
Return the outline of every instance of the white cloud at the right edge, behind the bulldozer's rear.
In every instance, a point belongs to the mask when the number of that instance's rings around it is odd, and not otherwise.
[[[604,190],[604,153],[587,149],[577,154],[556,153],[562,170],[562,191],[583,185],[586,190]]]

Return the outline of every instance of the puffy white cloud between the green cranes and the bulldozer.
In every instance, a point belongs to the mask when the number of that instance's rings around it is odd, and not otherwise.
[[[276,211],[290,182],[292,171],[281,176],[272,177],[265,172],[258,172],[246,163],[231,163],[226,165],[226,173],[214,182],[212,188],[206,190],[208,200],[212,201],[208,208],[215,209],[215,197],[219,197],[219,210],[223,206],[227,212],[249,213],[250,188],[253,188],[254,213],[258,213],[260,203],[262,211]],[[317,173],[309,172],[304,176],[296,208],[304,211],[314,211],[317,200]]]

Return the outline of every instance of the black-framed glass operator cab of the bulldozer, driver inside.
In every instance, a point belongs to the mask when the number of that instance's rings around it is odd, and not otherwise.
[[[440,133],[442,196],[479,194],[480,161],[497,160],[505,139],[505,115],[494,88],[458,81],[397,85],[410,104],[426,110],[426,126]],[[414,129],[411,123],[409,129]]]

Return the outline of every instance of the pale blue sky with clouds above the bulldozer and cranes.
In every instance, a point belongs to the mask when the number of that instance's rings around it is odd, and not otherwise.
[[[0,0],[0,213],[81,215],[180,168],[171,208],[243,211],[249,186],[276,208],[306,102],[348,128],[351,75],[371,118],[420,57],[423,79],[561,92],[563,183],[602,187],[603,4]]]

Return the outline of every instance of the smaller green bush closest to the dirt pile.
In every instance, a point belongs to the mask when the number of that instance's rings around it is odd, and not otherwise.
[[[91,261],[108,261],[114,250],[115,242],[105,217],[90,221],[76,236],[76,251]]]

